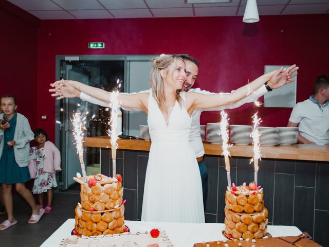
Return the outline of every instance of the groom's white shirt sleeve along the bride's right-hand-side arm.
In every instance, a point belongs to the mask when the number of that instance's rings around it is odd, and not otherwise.
[[[192,92],[192,91],[189,91]],[[200,93],[200,94],[214,94],[214,93],[210,93],[208,91],[205,90],[194,90],[194,93]],[[232,91],[234,92],[234,91]],[[232,93],[231,92],[231,93]],[[255,100],[258,100],[259,97],[263,96],[264,94],[266,94],[268,91],[265,87],[265,85],[262,85],[258,90],[254,91],[253,93],[249,94],[248,96],[244,97],[243,99],[236,101],[235,103],[232,104],[227,104],[227,105],[222,105],[221,107],[216,107],[216,108],[209,108],[209,109],[200,109],[201,111],[221,111],[221,110],[225,110],[225,109],[234,109],[234,108],[238,108],[241,107],[241,105],[245,104],[245,103],[250,103],[253,102]],[[228,94],[228,93],[225,93]]]

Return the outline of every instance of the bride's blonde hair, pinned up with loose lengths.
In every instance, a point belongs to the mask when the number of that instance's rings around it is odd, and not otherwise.
[[[153,92],[153,97],[157,101],[159,108],[168,110],[165,104],[165,96],[163,94],[163,78],[161,77],[160,70],[165,69],[166,73],[168,73],[168,67],[171,64],[174,64],[176,67],[177,61],[181,60],[184,62],[184,59],[177,55],[160,55],[159,57],[155,57],[152,59],[152,69],[151,69],[151,77],[150,77],[150,85]],[[185,63],[185,62],[184,62]],[[179,95],[181,89],[176,90],[176,100],[178,101],[180,107],[182,104],[182,99]]]

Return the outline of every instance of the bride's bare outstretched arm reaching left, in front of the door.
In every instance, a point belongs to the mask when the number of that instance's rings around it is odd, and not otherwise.
[[[53,88],[49,92],[53,92],[51,96],[62,99],[64,97],[80,97],[81,92],[86,93],[104,103],[110,103],[111,92],[107,92],[97,87],[88,86],[78,81],[61,80],[51,83],[50,86]],[[147,112],[148,105],[148,93],[140,94],[119,94],[118,98],[121,107],[134,108]]]

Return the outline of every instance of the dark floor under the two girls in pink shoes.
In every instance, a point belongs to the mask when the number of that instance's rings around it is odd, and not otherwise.
[[[75,207],[80,201],[80,188],[71,188],[64,192],[53,193],[53,211],[44,214],[36,224],[28,224],[31,209],[19,195],[13,196],[14,216],[16,225],[0,231],[0,246],[40,246],[67,219],[75,217]],[[7,219],[7,215],[0,215],[0,223]]]

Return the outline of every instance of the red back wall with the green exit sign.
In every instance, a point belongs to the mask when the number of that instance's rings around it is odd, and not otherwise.
[[[264,65],[298,64],[297,101],[312,93],[315,78],[328,72],[329,15],[261,16],[256,24],[237,17],[42,21],[38,30],[38,126],[54,134],[56,55],[189,54],[200,62],[197,85],[230,92],[264,73]],[[283,31],[282,31],[283,30]],[[105,49],[88,49],[105,42]],[[148,80],[148,78],[145,78]],[[252,104],[228,112],[230,123],[249,124],[258,110],[263,126],[286,126],[290,108]],[[47,120],[41,120],[47,115]],[[219,113],[203,113],[202,122]]]

